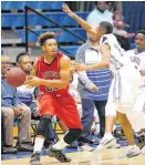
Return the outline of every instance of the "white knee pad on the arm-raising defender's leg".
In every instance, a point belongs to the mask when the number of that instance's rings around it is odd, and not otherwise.
[[[105,116],[115,116],[118,111],[118,103],[107,103],[105,107]]]

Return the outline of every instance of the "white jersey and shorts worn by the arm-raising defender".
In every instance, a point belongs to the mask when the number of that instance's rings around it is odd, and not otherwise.
[[[125,55],[114,34],[105,34],[101,43],[106,43],[111,48],[110,70],[114,73],[114,79],[108,93],[108,102],[120,102],[124,107],[132,107],[136,93],[142,82],[138,58]]]

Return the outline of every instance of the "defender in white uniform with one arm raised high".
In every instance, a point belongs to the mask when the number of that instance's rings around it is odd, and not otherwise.
[[[85,31],[97,35],[99,39],[101,39],[101,35],[103,35],[106,32],[112,33],[112,32],[108,32],[108,29],[111,30],[111,25],[108,23],[106,23],[104,27],[101,27],[101,24],[100,24],[97,30],[94,31],[87,24],[87,22],[85,22],[84,20],[79,18],[75,13],[73,13],[66,4],[63,4],[63,11],[65,11],[66,13],[69,13],[70,17],[75,19],[82,25],[82,28],[84,28]],[[112,86],[111,86],[110,95],[108,95],[108,102],[106,105],[105,135],[101,141],[102,147],[103,146],[110,147],[115,144],[115,138],[112,135],[112,131],[113,131],[113,125],[115,123],[116,111],[118,111],[118,110],[126,111],[128,109],[132,109],[133,101],[135,99],[137,89],[141,83],[141,74],[135,69],[136,65],[138,66],[137,63],[135,64],[135,63],[131,62],[130,59],[127,59],[127,63],[124,62],[124,59],[122,56],[123,50],[118,45],[116,38],[113,34],[106,34],[106,35],[102,37],[100,51],[103,55],[102,62],[94,64],[94,65],[87,65],[87,66],[85,66],[83,64],[75,65],[75,68],[77,70],[93,70],[93,69],[102,69],[102,68],[110,66],[111,70],[115,74],[115,79],[112,82]],[[111,55],[111,59],[110,59],[110,55]],[[127,72],[128,69],[132,69],[132,73]],[[125,72],[125,70],[126,70],[126,72]],[[130,87],[127,87],[126,85],[123,85],[121,89],[120,74],[122,74],[122,80],[123,80],[122,83],[132,84],[132,85],[130,85]],[[127,79],[125,76],[128,79],[128,82],[126,81]],[[125,86],[126,86],[126,89],[125,89]],[[122,93],[120,93],[121,90],[122,90]],[[131,92],[132,92],[132,95],[131,95]],[[124,95],[123,95],[123,93],[124,93]],[[126,115],[123,112],[122,113],[118,112],[117,116],[120,116],[118,121],[120,121],[120,123],[124,130],[124,133],[128,140],[128,143],[130,143],[130,149],[127,151],[126,155],[128,157],[131,157],[131,156],[141,154],[139,148],[135,145],[132,126],[131,126],[131,123],[128,122]]]

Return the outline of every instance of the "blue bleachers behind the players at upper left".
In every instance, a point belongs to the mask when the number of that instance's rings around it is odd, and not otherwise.
[[[62,11],[63,1],[41,1],[41,2],[33,2],[33,1],[22,1],[22,2],[12,2],[12,1],[4,1],[1,4],[2,14],[1,14],[1,24],[2,29],[7,32],[7,30],[12,31],[12,35],[15,37],[17,40],[9,40],[10,42],[14,43],[14,45],[24,45],[25,43],[25,16],[24,16],[24,7],[28,6],[32,9],[35,9],[38,12],[42,13],[44,17],[51,19],[55,23],[60,24],[61,27],[66,27],[68,30],[77,34],[82,39],[86,39],[86,33],[79,27],[79,24],[73,21],[69,16],[66,16]],[[14,10],[14,12],[13,12]],[[17,10],[17,11],[15,11]],[[9,12],[8,12],[9,11]],[[12,11],[12,12],[11,12]],[[89,12],[76,12],[83,19],[86,19]],[[59,45],[64,49],[65,54],[70,56],[75,56],[76,50],[82,42],[81,39],[69,33],[64,29],[56,27],[54,23],[45,20],[44,18],[40,17],[34,12],[28,12],[28,25],[33,32],[28,32],[28,45],[37,45],[38,35],[45,31],[53,31],[56,33],[56,40]],[[37,34],[35,34],[35,33]],[[7,47],[7,40],[2,40],[2,45]],[[33,44],[32,44],[33,43]],[[39,55],[40,48],[30,47],[29,49],[30,54],[33,52],[34,56]],[[33,58],[34,59],[34,58]]]

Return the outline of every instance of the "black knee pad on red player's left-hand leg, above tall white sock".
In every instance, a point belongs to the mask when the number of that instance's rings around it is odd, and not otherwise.
[[[40,123],[37,128],[37,135],[44,136],[48,125],[51,124],[52,116],[51,115],[43,115],[40,118]]]

